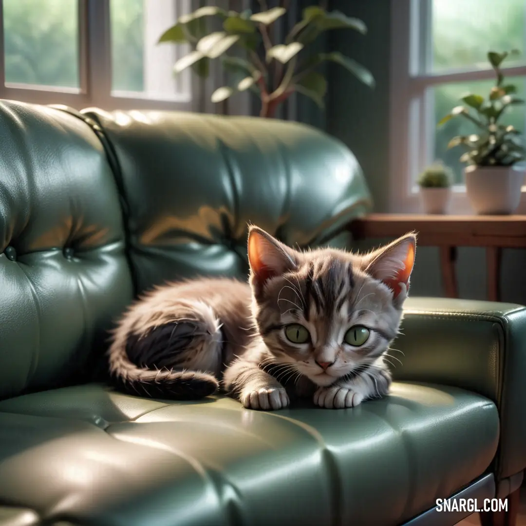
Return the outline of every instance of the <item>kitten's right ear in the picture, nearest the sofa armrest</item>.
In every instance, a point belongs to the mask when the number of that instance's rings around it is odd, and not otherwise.
[[[413,270],[417,236],[406,234],[367,257],[366,272],[383,281],[397,298],[401,292],[407,296],[409,278]]]

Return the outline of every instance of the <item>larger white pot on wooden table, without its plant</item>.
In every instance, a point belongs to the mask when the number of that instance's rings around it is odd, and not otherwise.
[[[524,168],[469,166],[466,193],[476,214],[513,214],[519,206]]]

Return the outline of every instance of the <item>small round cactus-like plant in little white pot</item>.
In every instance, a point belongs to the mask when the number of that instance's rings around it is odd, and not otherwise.
[[[418,178],[426,214],[446,214],[451,199],[452,171],[441,163],[428,166]]]

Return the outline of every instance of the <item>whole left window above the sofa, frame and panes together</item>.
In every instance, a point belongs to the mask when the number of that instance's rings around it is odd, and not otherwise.
[[[0,98],[195,109],[186,45],[157,45],[192,0],[0,0]]]

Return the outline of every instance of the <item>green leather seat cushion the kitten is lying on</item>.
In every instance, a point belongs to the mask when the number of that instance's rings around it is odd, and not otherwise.
[[[86,385],[0,402],[0,502],[49,523],[389,526],[480,476],[498,436],[494,404],[453,387],[258,412]]]

